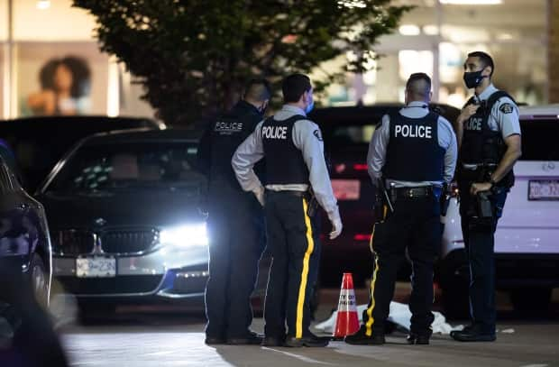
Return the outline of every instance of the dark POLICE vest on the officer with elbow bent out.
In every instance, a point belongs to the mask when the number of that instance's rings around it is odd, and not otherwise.
[[[294,115],[283,121],[273,117],[264,120],[261,133],[268,185],[308,184],[307,164],[293,143],[293,125],[306,119],[303,115]]]

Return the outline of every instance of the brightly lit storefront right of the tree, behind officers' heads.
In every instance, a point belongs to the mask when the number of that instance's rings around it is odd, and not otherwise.
[[[463,86],[463,62],[473,50],[486,51],[495,60],[497,87],[518,102],[546,103],[546,0],[500,0],[491,2],[494,5],[455,4],[475,3],[468,0],[392,3],[416,7],[404,15],[398,32],[380,39],[376,68],[348,75],[345,84],[330,87],[323,104],[403,102],[409,74],[422,71],[433,77],[435,101],[461,107],[471,93]]]

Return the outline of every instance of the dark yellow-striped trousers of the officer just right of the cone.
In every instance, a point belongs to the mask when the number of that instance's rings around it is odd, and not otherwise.
[[[371,250],[374,264],[370,301],[363,311],[366,335],[384,334],[399,260],[406,247],[412,261],[412,290],[409,299],[411,332],[430,333],[434,315],[433,263],[440,246],[440,206],[435,197],[398,198],[394,213],[373,226]]]

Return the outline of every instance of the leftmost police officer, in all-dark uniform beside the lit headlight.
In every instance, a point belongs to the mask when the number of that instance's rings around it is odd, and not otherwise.
[[[260,344],[249,330],[250,296],[263,251],[261,205],[235,179],[231,158],[254,131],[270,100],[266,80],[251,80],[243,100],[210,125],[200,142],[199,162],[208,177],[209,280],[206,344]]]

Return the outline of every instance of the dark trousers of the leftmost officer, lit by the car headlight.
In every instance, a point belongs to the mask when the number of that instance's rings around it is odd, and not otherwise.
[[[263,212],[253,194],[243,192],[212,195],[208,209],[206,335],[244,337],[252,323],[251,294],[265,246]]]

